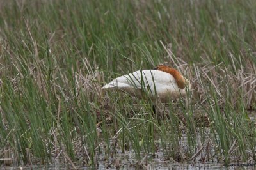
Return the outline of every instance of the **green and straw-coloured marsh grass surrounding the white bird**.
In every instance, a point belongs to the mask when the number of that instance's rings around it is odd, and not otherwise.
[[[256,160],[255,1],[0,3],[3,166],[88,167],[104,155],[118,167],[130,152],[144,168],[160,153],[175,164]],[[159,103],[156,116],[100,89],[159,64],[191,81],[188,107]]]

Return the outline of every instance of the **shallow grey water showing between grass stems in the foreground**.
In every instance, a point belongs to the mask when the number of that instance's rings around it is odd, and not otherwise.
[[[250,114],[250,119],[255,121],[255,112]],[[198,130],[199,131],[199,130]],[[206,128],[204,131],[205,140],[207,139],[207,136],[209,136],[210,130],[209,128]],[[198,132],[198,139],[201,139],[200,132]],[[175,137],[175,135],[170,134],[170,137]],[[218,137],[218,136],[217,136]],[[234,168],[241,168],[245,167],[248,169],[254,169],[256,167],[255,163],[247,163],[247,162],[240,162],[240,163],[230,163],[227,166],[223,163],[218,162],[200,162],[200,155],[205,155],[205,151],[202,150],[200,154],[198,154],[198,157],[195,157],[195,162],[175,162],[174,160],[166,160],[166,155],[164,155],[164,150],[161,149],[161,140],[159,140],[160,136],[157,137],[155,143],[157,146],[159,146],[159,150],[154,153],[154,155],[146,154],[141,151],[141,165],[138,165],[138,160],[136,159],[136,155],[134,154],[134,151],[125,151],[125,153],[122,153],[121,150],[118,150],[116,154],[109,154],[109,153],[101,153],[97,154],[97,166],[90,167],[82,165],[78,162],[75,162],[77,168],[79,169],[138,169],[138,168],[145,168],[145,169],[234,169]],[[185,149],[188,147],[188,137],[186,134],[183,134],[180,137],[179,143],[182,145],[182,149]],[[198,149],[198,148],[197,148]],[[102,148],[104,150],[104,148]],[[210,148],[210,151],[214,152],[214,148]],[[145,156],[146,155],[146,156]],[[52,163],[54,162],[54,163]],[[68,169],[72,168],[71,165],[68,165],[65,163],[64,160],[57,160],[52,161],[47,166],[38,166],[38,165],[32,165],[32,166],[14,166],[14,167],[4,167],[3,165],[0,165],[0,169]]]

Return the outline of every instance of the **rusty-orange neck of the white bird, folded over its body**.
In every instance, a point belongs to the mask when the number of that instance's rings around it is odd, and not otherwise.
[[[170,67],[164,66],[164,65],[159,65],[156,68],[154,68],[154,70],[160,70],[162,72],[170,73],[176,80],[180,89],[184,89],[186,87],[186,80],[181,75],[181,73],[179,71],[175,70],[174,68],[170,68]]]

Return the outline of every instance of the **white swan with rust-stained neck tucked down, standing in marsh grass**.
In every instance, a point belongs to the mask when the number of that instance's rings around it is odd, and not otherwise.
[[[149,97],[152,100],[159,98],[162,102],[186,95],[188,79],[184,78],[177,70],[173,71],[175,73],[177,72],[175,74],[165,72],[159,67],[156,69],[139,70],[117,77],[103,86],[102,89],[108,91],[124,91],[137,98]],[[183,84],[179,83],[179,80]]]

